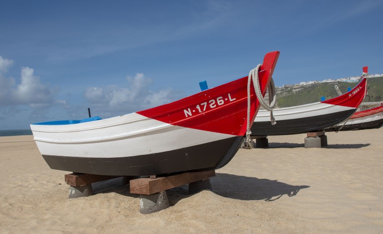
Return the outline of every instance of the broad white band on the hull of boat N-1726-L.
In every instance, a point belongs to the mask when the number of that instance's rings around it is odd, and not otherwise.
[[[136,114],[138,115],[138,114]],[[101,120],[97,120],[101,121]],[[146,125],[145,130],[143,124]],[[141,123],[141,124],[138,124]],[[137,126],[138,124],[138,126]],[[41,129],[41,128],[45,128]],[[53,130],[52,126],[34,125],[34,139],[43,155],[72,156],[72,157],[128,157],[166,152],[193,145],[208,143],[233,137],[211,131],[164,124],[161,121],[146,118],[145,121],[134,121],[132,124],[122,124],[109,128],[89,128],[73,132],[59,131],[54,140],[47,139]],[[105,133],[105,131],[108,131]],[[104,135],[111,135],[104,137]],[[47,135],[45,135],[47,134]]]

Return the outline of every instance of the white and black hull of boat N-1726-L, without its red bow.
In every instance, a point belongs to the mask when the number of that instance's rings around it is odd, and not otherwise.
[[[138,113],[53,127],[33,126],[36,144],[50,168],[97,175],[219,168],[243,140],[242,135],[173,125]]]

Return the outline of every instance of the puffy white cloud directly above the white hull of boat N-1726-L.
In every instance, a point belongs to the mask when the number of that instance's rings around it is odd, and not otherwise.
[[[96,112],[130,113],[151,107],[156,107],[169,102],[175,98],[173,89],[168,88],[154,92],[150,89],[152,79],[142,73],[137,73],[134,78],[127,76],[128,88],[118,86],[88,87],[85,89],[84,97],[95,108]]]

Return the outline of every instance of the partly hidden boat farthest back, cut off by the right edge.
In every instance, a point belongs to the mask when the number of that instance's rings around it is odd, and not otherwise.
[[[340,123],[326,131],[348,131],[380,128],[383,125],[383,104],[354,113],[346,123]]]

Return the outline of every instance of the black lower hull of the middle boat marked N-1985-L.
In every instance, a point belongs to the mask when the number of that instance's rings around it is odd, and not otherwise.
[[[254,122],[251,135],[290,135],[311,131],[320,131],[337,125],[355,113],[356,109],[336,112],[327,115],[278,120],[272,125],[270,121]]]

